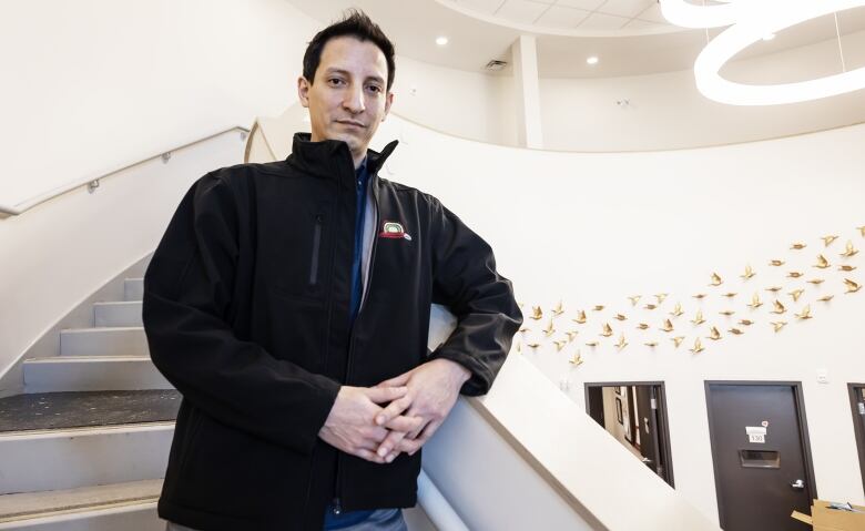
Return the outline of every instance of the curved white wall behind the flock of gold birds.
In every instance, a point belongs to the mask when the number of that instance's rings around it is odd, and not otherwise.
[[[511,278],[528,314],[542,305],[549,314],[559,299],[567,313],[557,319],[562,330],[578,328],[578,340],[557,353],[551,339],[539,333],[547,319],[527,319],[532,331],[520,343],[522,355],[553,382],[572,379],[570,397],[584,408],[584,381],[663,380],[670,416],[676,489],[703,513],[716,519],[716,500],[709,446],[704,380],[796,380],[804,387],[818,494],[825,499],[863,502],[846,384],[865,381],[865,290],[844,295],[842,274],[812,267],[817,253],[833,264],[847,239],[865,246],[855,227],[865,224],[865,125],[777,141],[702,150],[658,153],[573,154],[528,151],[467,142],[440,135],[398,120],[386,122],[379,143],[403,137],[388,163],[391,178],[432,193],[484,235],[496,249],[500,270]],[[442,164],[429,164],[429,157]],[[460,161],[452,164],[451,161]],[[828,249],[818,239],[841,238]],[[802,252],[790,251],[805,242]],[[861,253],[848,261],[861,264]],[[770,268],[783,258],[788,267]],[[746,264],[757,275],[745,284],[739,278]],[[820,275],[820,288],[784,278],[802,269],[807,278]],[[865,283],[862,268],[848,276]],[[710,275],[725,278],[710,288]],[[785,292],[800,284],[807,290],[798,304],[782,295],[791,310],[811,303],[814,318],[796,321],[774,334],[775,320],[763,307],[753,313],[757,325],[745,335],[726,333],[732,321],[718,312],[727,307],[737,319],[751,315],[745,307],[752,293],[778,284]],[[720,293],[739,292],[727,303]],[[713,294],[698,304],[691,296]],[[652,313],[642,309],[651,295],[669,293]],[[632,308],[630,295],[644,296]],[[830,304],[814,302],[835,294]],[[676,333],[688,337],[674,349],[658,330],[662,318],[681,302],[686,315],[674,320]],[[580,327],[568,319],[577,309],[589,312]],[[703,339],[705,351],[688,348],[708,325],[694,330],[691,319],[702,308],[724,339]],[[612,316],[629,317],[620,326]],[[645,320],[651,329],[638,333]],[[598,334],[610,321],[615,337]],[[620,330],[630,343],[619,353],[612,347]],[[658,340],[654,350],[643,343]],[[600,340],[597,349],[584,343]],[[542,346],[532,351],[528,343]],[[584,364],[570,368],[568,358],[580,348]],[[816,382],[818,370],[830,382]]]

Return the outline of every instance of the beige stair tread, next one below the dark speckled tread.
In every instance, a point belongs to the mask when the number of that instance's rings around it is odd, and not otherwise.
[[[0,496],[0,522],[48,514],[147,503],[159,499],[162,479]]]

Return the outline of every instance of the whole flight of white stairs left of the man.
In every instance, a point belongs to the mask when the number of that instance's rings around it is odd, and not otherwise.
[[[156,370],[143,280],[60,331],[58,356],[23,361],[0,399],[0,530],[162,531],[156,515],[181,396]]]

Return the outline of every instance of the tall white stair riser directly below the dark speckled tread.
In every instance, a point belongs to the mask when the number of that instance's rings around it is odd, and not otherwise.
[[[174,422],[0,433],[0,494],[164,477]]]

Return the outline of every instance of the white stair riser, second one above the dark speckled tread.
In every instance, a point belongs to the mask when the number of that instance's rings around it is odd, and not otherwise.
[[[61,356],[150,356],[140,326],[70,328],[60,331]]]

